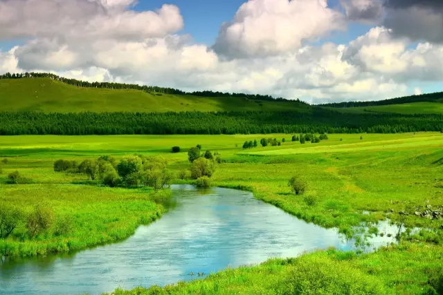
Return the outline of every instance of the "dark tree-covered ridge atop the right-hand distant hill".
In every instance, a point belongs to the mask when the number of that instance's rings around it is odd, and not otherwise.
[[[409,104],[412,102],[435,102],[437,99],[443,99],[443,92],[410,95],[372,102],[333,102],[330,104],[320,104],[320,106],[330,106],[332,108],[354,108],[356,106],[386,106],[388,104]]]

